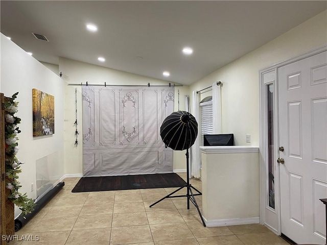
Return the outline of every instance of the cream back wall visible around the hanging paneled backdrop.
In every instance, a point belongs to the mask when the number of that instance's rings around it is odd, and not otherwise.
[[[169,82],[157,80],[149,77],[143,77],[128,72],[105,68],[102,66],[91,65],[75,60],[59,58],[59,72],[62,72],[62,78],[71,84],[85,84],[86,81],[91,84],[107,85],[168,85]],[[65,87],[65,126],[64,126],[64,146],[65,146],[65,173],[69,175],[82,174],[82,136],[79,137],[79,144],[75,143],[75,88],[78,93],[78,131],[82,135],[82,105],[81,105],[81,86]],[[178,109],[178,90],[180,110],[184,110],[184,95],[189,93],[188,86],[175,87],[175,110]],[[174,152],[174,169],[186,169],[185,157],[183,152]]]

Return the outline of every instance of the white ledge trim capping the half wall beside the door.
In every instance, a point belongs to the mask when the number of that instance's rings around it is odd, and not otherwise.
[[[258,153],[259,147],[253,145],[233,145],[233,146],[200,146],[201,153]]]

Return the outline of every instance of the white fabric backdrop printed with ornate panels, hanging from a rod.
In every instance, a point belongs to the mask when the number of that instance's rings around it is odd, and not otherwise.
[[[174,111],[174,88],[84,86],[83,176],[171,173],[160,137]]]

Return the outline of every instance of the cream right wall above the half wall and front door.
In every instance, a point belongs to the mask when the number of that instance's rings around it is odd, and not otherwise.
[[[236,145],[259,146],[259,70],[326,44],[326,16],[323,11],[190,86],[192,91],[223,83],[223,133],[233,133]],[[246,134],[251,143],[246,143]]]

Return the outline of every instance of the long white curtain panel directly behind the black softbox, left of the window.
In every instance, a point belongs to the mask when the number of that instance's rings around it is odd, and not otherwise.
[[[200,129],[200,93],[197,93],[196,91],[193,91],[193,102],[192,102],[192,113],[191,113],[196,121],[198,122],[198,137],[195,140],[195,143],[191,147],[192,149],[192,162],[191,162],[191,168],[192,168],[192,176],[195,178],[200,178],[200,164],[201,164],[201,158],[200,158],[200,140],[201,137],[201,129]]]

